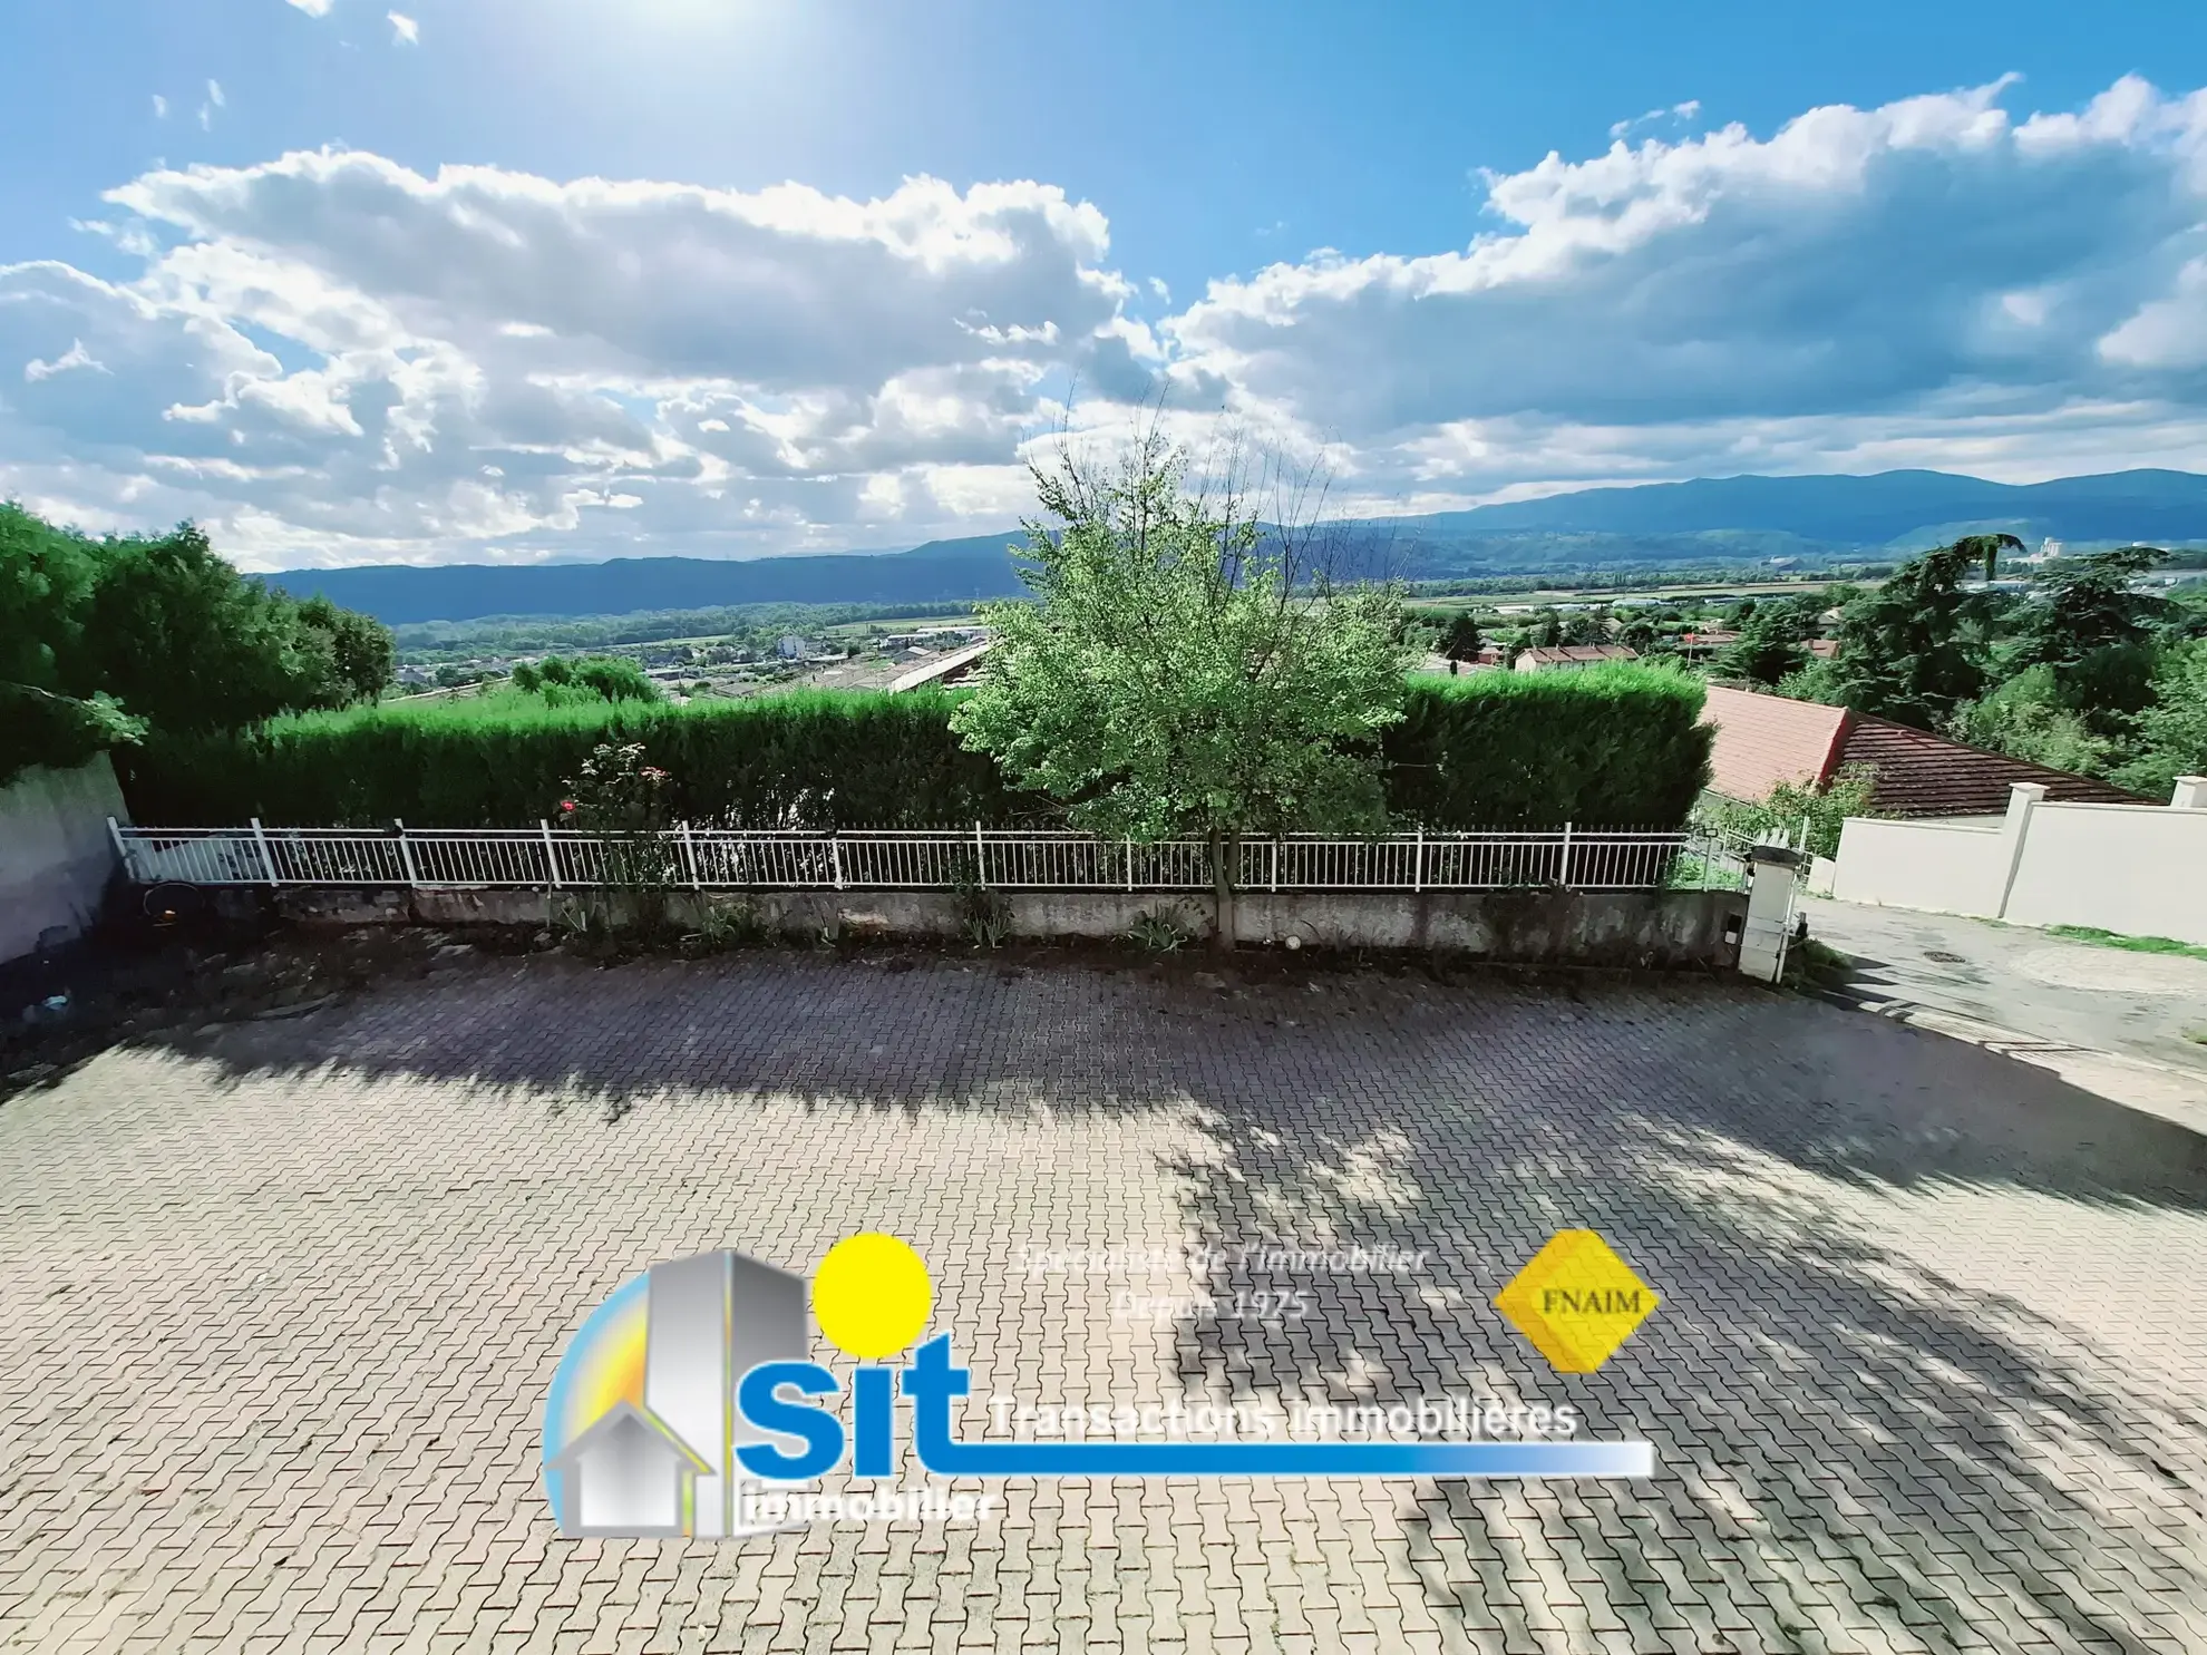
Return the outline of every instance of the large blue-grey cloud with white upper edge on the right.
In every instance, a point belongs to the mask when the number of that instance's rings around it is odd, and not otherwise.
[[[2004,88],[1549,154],[1488,179],[1496,227],[1463,249],[1212,282],[1161,324],[1172,373],[1346,441],[1382,494],[1777,468],[1741,463],[1759,421],[1830,421],[1792,470],[1854,452],[1852,419],[2196,421],[2207,95],[2125,79],[2015,119]],[[1977,466],[2050,452],[2011,426]]]

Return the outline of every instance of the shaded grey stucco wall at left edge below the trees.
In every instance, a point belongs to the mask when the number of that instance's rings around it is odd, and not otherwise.
[[[0,960],[35,953],[49,931],[82,936],[97,918],[115,872],[108,816],[130,821],[106,752],[0,788]]]

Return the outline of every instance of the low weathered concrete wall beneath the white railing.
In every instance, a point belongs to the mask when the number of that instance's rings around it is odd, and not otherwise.
[[[964,909],[949,891],[675,891],[671,918],[693,927],[697,905],[755,916],[768,931],[814,938],[960,938]],[[1207,898],[1156,891],[1006,891],[1017,938],[1117,938],[1143,914],[1174,911],[1198,938]],[[307,925],[550,925],[569,898],[547,891],[331,891],[287,889],[276,907]],[[1706,967],[1739,962],[1748,900],[1739,891],[1245,891],[1245,944],[1311,949],[1439,949],[1523,964]]]

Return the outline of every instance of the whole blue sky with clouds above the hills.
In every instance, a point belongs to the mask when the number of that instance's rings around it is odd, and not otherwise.
[[[2196,468],[2207,11],[2108,11],[18,4],[0,492],[249,567],[905,545],[1143,397],[1351,510]]]

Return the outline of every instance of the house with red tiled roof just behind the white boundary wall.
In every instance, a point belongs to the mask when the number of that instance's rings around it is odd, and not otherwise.
[[[2092,777],[2024,764],[2004,752],[1949,741],[1845,706],[1708,686],[1702,722],[1717,730],[1708,790],[1755,803],[1781,781],[1823,786],[1849,766],[1869,766],[1869,808],[1889,816],[2000,816],[2017,781],[2083,805],[2134,805],[2136,797]]]

